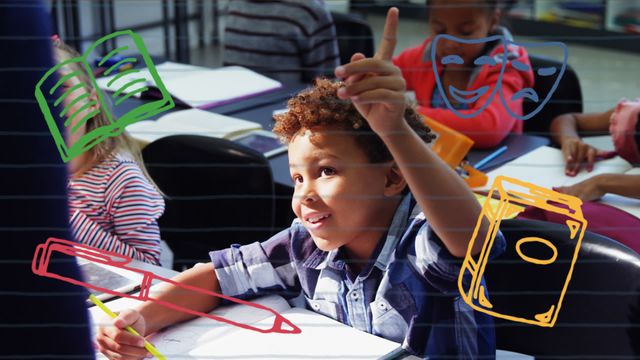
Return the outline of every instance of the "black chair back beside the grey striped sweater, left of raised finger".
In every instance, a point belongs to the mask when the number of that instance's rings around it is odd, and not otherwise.
[[[336,25],[340,64],[351,62],[351,56],[357,52],[373,56],[373,30],[369,23],[353,14],[331,12],[331,17]]]

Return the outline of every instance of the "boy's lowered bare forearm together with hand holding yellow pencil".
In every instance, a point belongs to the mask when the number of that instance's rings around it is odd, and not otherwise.
[[[205,290],[220,293],[220,285],[211,264],[201,264],[179,274],[173,280],[196,286]],[[161,295],[154,295],[159,300],[208,313],[220,303],[220,298],[190,292],[184,296],[184,290],[173,285],[164,285]],[[144,348],[144,338],[160,329],[177,322],[194,318],[194,315],[181,311],[171,310],[155,302],[148,301],[137,310],[125,310],[120,312],[114,320],[114,326],[100,327],[96,335],[96,341],[100,351],[109,358],[119,359],[123,355],[131,357],[144,357],[147,350]],[[136,336],[125,330],[127,326],[133,327],[142,336]]]

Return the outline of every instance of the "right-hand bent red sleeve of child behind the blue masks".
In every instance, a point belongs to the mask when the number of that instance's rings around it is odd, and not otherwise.
[[[484,76],[481,74],[473,84],[473,88],[477,89],[484,85],[493,85],[498,81],[499,75],[499,71],[486,73]],[[507,66],[502,78],[502,92],[505,98],[510,99],[525,84],[526,86],[532,86],[532,83],[532,74],[522,73],[511,66]],[[458,112],[471,114],[477,111],[482,105],[486,104],[490,95],[490,93],[485,94],[470,109],[458,110]],[[522,113],[522,99],[514,102],[512,106],[513,109],[516,109],[514,112]],[[499,92],[495,93],[489,105],[480,114],[471,118],[461,118],[449,109],[434,109],[421,106],[418,111],[469,136],[474,141],[475,148],[490,148],[498,145],[512,131],[515,122],[519,121],[509,115],[500,99]]]

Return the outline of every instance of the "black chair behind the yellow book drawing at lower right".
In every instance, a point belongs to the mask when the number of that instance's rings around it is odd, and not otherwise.
[[[540,303],[553,304],[558,297],[554,284],[566,278],[565,267],[555,264],[569,261],[569,256],[562,254],[570,253],[566,250],[574,244],[568,228],[515,219],[503,221],[500,229],[511,245],[491,260],[492,265],[485,272],[494,308],[534,311],[540,309]],[[535,265],[520,258],[513,245],[530,236],[549,239],[557,246],[558,258],[553,265]],[[526,254],[545,258],[548,250],[534,247]],[[499,349],[539,359],[640,356],[640,255],[614,240],[586,231],[555,326],[494,319]]]

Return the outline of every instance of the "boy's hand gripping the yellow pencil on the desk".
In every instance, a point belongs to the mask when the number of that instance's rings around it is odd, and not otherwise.
[[[146,325],[142,315],[136,310],[122,311],[113,321],[113,326],[100,326],[96,341],[100,352],[109,359],[144,359],[149,352],[144,348],[144,338],[127,331],[133,327],[144,334]]]

